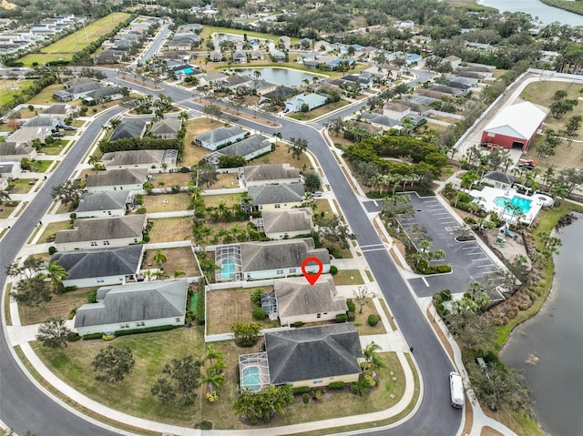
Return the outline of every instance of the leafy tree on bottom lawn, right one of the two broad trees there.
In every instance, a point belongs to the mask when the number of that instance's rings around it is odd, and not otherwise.
[[[200,384],[200,366],[199,360],[194,360],[191,355],[173,359],[164,366],[162,377],[152,386],[152,395],[162,404],[176,401],[179,406],[191,406]]]

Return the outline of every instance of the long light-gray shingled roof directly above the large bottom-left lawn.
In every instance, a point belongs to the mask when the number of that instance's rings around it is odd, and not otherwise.
[[[77,309],[75,327],[183,317],[187,291],[186,279],[100,288],[105,298]]]

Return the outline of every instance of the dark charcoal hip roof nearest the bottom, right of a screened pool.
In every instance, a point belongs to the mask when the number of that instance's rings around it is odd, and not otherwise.
[[[352,323],[265,333],[271,384],[361,371],[361,343]]]

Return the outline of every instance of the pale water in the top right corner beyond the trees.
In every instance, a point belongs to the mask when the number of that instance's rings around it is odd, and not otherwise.
[[[533,18],[537,16],[544,25],[554,21],[563,25],[583,25],[583,15],[548,6],[538,0],[478,0],[477,3],[496,7],[500,12],[524,12]]]

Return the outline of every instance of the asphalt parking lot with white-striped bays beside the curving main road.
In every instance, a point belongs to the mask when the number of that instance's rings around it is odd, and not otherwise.
[[[455,240],[459,235],[459,223],[437,198],[420,198],[415,193],[410,197],[415,214],[401,217],[402,226],[405,230],[413,230],[412,233],[416,228],[424,227],[432,238],[432,250],[445,251],[445,258],[432,262],[432,265],[447,264],[453,270],[451,274],[409,279],[418,297],[428,297],[442,289],[465,292],[470,282],[482,281],[487,274],[496,271],[496,264],[476,241]],[[383,208],[381,201],[367,201],[364,206],[369,212]]]

